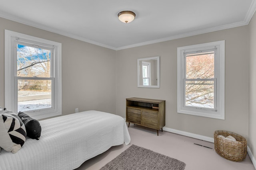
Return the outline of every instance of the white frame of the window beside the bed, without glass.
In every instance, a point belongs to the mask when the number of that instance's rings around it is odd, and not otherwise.
[[[34,119],[44,119],[62,114],[62,73],[61,73],[61,50],[62,44],[30,35],[5,30],[5,107],[15,113],[18,112],[18,94],[16,77],[16,56],[14,47],[15,39],[22,40],[36,45],[54,47],[54,57],[52,57],[52,108],[39,109],[34,111],[24,111]],[[28,78],[29,79],[29,78]],[[17,101],[16,101],[17,100]],[[15,102],[16,101],[16,102]],[[17,105],[17,106],[15,106]]]

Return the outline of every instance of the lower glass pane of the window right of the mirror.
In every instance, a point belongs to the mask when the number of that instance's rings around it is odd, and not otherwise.
[[[186,81],[186,106],[214,108],[214,81]]]

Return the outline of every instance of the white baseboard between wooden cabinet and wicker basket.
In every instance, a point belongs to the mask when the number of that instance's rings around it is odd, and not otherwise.
[[[200,140],[204,140],[204,141],[214,143],[214,138],[212,138],[212,137],[206,137],[206,136],[203,136],[203,135],[198,135],[198,134],[195,134],[195,133],[189,133],[189,132],[185,132],[185,131],[171,129],[171,128],[168,128],[168,127],[163,127],[163,130],[167,131],[167,132],[176,133],[176,134],[179,134],[179,135],[192,137],[192,138],[196,138],[196,139],[200,139]]]

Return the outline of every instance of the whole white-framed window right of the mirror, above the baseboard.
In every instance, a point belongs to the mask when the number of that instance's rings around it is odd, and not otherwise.
[[[224,119],[225,41],[178,48],[178,113]]]

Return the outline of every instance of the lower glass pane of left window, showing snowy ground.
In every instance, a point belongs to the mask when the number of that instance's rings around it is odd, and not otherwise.
[[[18,80],[18,111],[52,107],[52,80]]]

